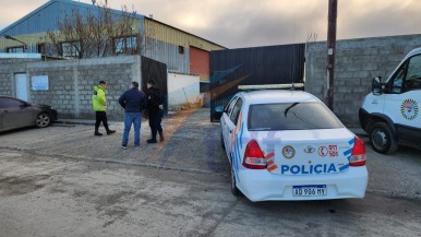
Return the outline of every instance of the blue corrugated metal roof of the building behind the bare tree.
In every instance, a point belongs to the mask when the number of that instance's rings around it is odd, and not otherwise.
[[[57,22],[71,15],[73,10],[79,10],[81,14],[93,14],[98,11],[98,7],[72,0],[50,0],[28,13],[24,17],[0,31],[0,37],[4,35],[35,34],[47,31],[58,29]],[[120,15],[122,12],[112,10],[112,13]],[[139,19],[144,16],[136,15]]]

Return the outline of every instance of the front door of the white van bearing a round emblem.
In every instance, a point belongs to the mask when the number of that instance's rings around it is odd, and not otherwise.
[[[394,121],[400,140],[421,142],[421,55],[407,59],[390,78],[388,86],[384,114]]]

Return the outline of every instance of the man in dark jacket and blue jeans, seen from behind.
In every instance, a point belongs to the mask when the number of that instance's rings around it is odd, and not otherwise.
[[[130,129],[134,127],[134,149],[141,145],[142,108],[147,106],[145,93],[139,91],[139,83],[132,82],[132,88],[125,91],[119,98],[119,104],[124,108],[124,133],[122,147],[128,147]]]

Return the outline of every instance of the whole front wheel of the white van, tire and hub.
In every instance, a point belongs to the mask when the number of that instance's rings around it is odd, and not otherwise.
[[[376,122],[370,132],[370,143],[374,151],[392,154],[398,150],[395,134],[386,122]]]

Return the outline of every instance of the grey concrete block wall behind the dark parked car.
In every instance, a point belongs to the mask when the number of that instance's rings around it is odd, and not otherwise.
[[[14,73],[26,72],[29,85],[29,102],[51,105],[59,118],[95,118],[91,96],[93,86],[100,80],[108,83],[108,117],[122,120],[123,110],[118,104],[119,96],[131,87],[132,81],[141,81],[140,56],[123,56],[101,59],[37,61],[8,63],[0,66],[0,84],[13,84]],[[31,79],[34,75],[48,75],[48,91],[33,91]],[[1,94],[15,96],[15,88],[0,91]]]

